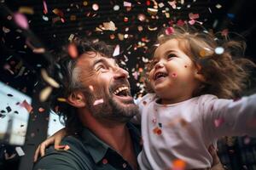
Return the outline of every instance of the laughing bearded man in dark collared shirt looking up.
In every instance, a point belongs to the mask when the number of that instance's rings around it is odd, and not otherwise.
[[[33,169],[138,169],[142,145],[129,122],[138,108],[128,72],[109,57],[113,51],[103,42],[76,39],[73,45],[79,57],[60,55],[59,71],[53,73],[62,82],[61,91],[51,99],[52,108],[65,117],[69,136],[61,141],[64,150],[50,148]]]

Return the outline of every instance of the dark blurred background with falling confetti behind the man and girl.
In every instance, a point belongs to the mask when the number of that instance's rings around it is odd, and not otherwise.
[[[63,127],[39,97],[41,70],[49,52],[73,37],[113,45],[120,66],[130,72],[131,92],[145,94],[148,50],[163,28],[199,24],[247,42],[256,61],[256,3],[253,0],[0,0],[0,169],[31,169],[35,147]],[[237,32],[240,36],[235,33]],[[244,94],[255,93],[255,81]],[[229,169],[256,170],[256,140],[220,139],[218,155]]]

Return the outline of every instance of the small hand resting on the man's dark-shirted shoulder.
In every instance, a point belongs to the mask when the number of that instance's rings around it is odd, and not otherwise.
[[[34,155],[34,161],[38,160],[38,156],[44,156],[45,148],[47,148],[50,144],[55,144],[55,150],[59,150],[59,145],[61,144],[61,139],[63,139],[67,135],[65,127],[54,133],[49,139],[44,140],[41,144],[38,145],[38,148]]]

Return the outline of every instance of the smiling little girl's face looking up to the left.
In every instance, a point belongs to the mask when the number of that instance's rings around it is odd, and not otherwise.
[[[177,39],[168,40],[156,48],[153,65],[149,81],[162,104],[190,99],[199,86],[198,69],[183,53]]]

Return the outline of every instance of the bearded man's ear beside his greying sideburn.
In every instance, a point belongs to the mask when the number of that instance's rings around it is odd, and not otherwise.
[[[84,94],[82,92],[73,92],[68,96],[67,103],[74,107],[84,107],[86,104]]]

